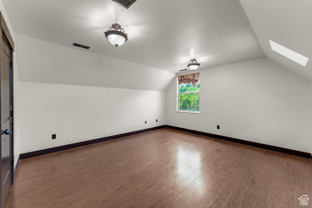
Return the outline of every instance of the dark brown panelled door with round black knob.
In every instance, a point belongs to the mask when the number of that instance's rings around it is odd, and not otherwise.
[[[1,202],[2,207],[7,199],[12,183],[12,166],[11,166],[11,50],[2,36],[1,42]]]

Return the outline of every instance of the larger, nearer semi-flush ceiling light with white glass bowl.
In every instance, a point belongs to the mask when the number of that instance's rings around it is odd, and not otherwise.
[[[121,28],[119,24],[112,24],[112,27],[108,28],[108,31],[104,33],[105,37],[110,41],[110,43],[118,47],[128,40],[128,34],[122,31],[124,31],[124,29]]]

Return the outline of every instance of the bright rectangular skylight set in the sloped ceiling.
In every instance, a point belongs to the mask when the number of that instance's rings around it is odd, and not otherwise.
[[[292,51],[288,48],[285,48],[284,46],[281,46],[280,44],[277,44],[273,41],[270,41],[270,44],[273,51],[276,51],[277,53],[286,56],[287,58],[297,62],[298,64],[305,66],[309,60],[309,58],[302,56],[299,53],[296,53],[295,51]]]

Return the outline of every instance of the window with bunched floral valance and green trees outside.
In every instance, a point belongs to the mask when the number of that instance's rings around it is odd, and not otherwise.
[[[178,76],[178,111],[199,113],[199,73]]]

